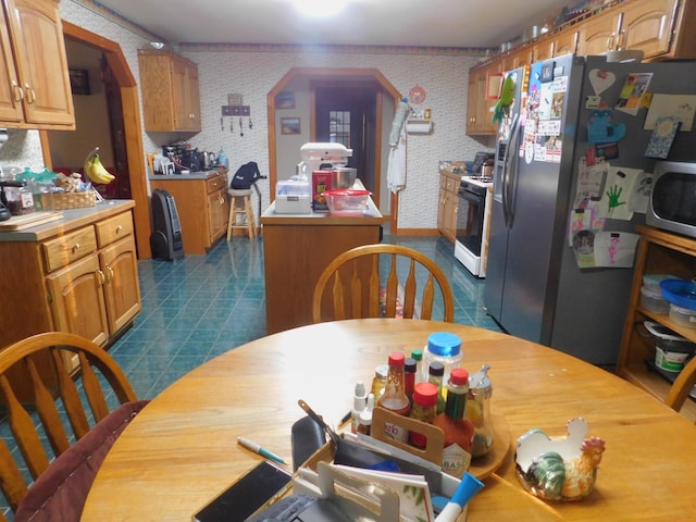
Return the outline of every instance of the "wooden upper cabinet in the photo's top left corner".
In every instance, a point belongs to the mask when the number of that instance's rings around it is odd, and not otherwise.
[[[0,125],[74,129],[58,0],[3,0]]]

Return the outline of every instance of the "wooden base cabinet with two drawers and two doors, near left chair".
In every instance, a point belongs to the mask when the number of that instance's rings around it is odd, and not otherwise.
[[[109,200],[0,232],[0,348],[49,331],[107,346],[133,323],[141,307],[134,207],[132,200]],[[76,365],[65,362],[69,370]],[[21,400],[30,396],[26,389]]]

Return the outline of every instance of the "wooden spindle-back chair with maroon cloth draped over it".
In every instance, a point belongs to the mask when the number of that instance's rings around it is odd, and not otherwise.
[[[79,366],[71,374],[65,361],[73,358]],[[18,387],[27,382],[20,383],[17,372],[29,382],[30,405],[20,402]],[[0,351],[0,400],[18,448],[11,451],[0,439],[0,483],[15,521],[79,520],[103,458],[147,403],[101,347],[63,332],[37,334]]]

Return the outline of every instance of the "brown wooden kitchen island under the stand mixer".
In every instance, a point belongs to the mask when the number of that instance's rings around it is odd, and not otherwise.
[[[278,214],[275,201],[261,215],[268,334],[312,324],[314,285],[339,253],[382,240],[384,217],[370,198],[364,215]]]

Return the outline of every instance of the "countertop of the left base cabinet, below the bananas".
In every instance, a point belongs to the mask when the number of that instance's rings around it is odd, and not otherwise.
[[[58,212],[63,214],[62,219],[24,228],[23,231],[0,232],[0,241],[40,241],[47,237],[79,228],[85,224],[95,222],[97,219],[101,220],[120,214],[134,207],[135,201],[132,199],[108,199],[94,207],[60,210]]]

